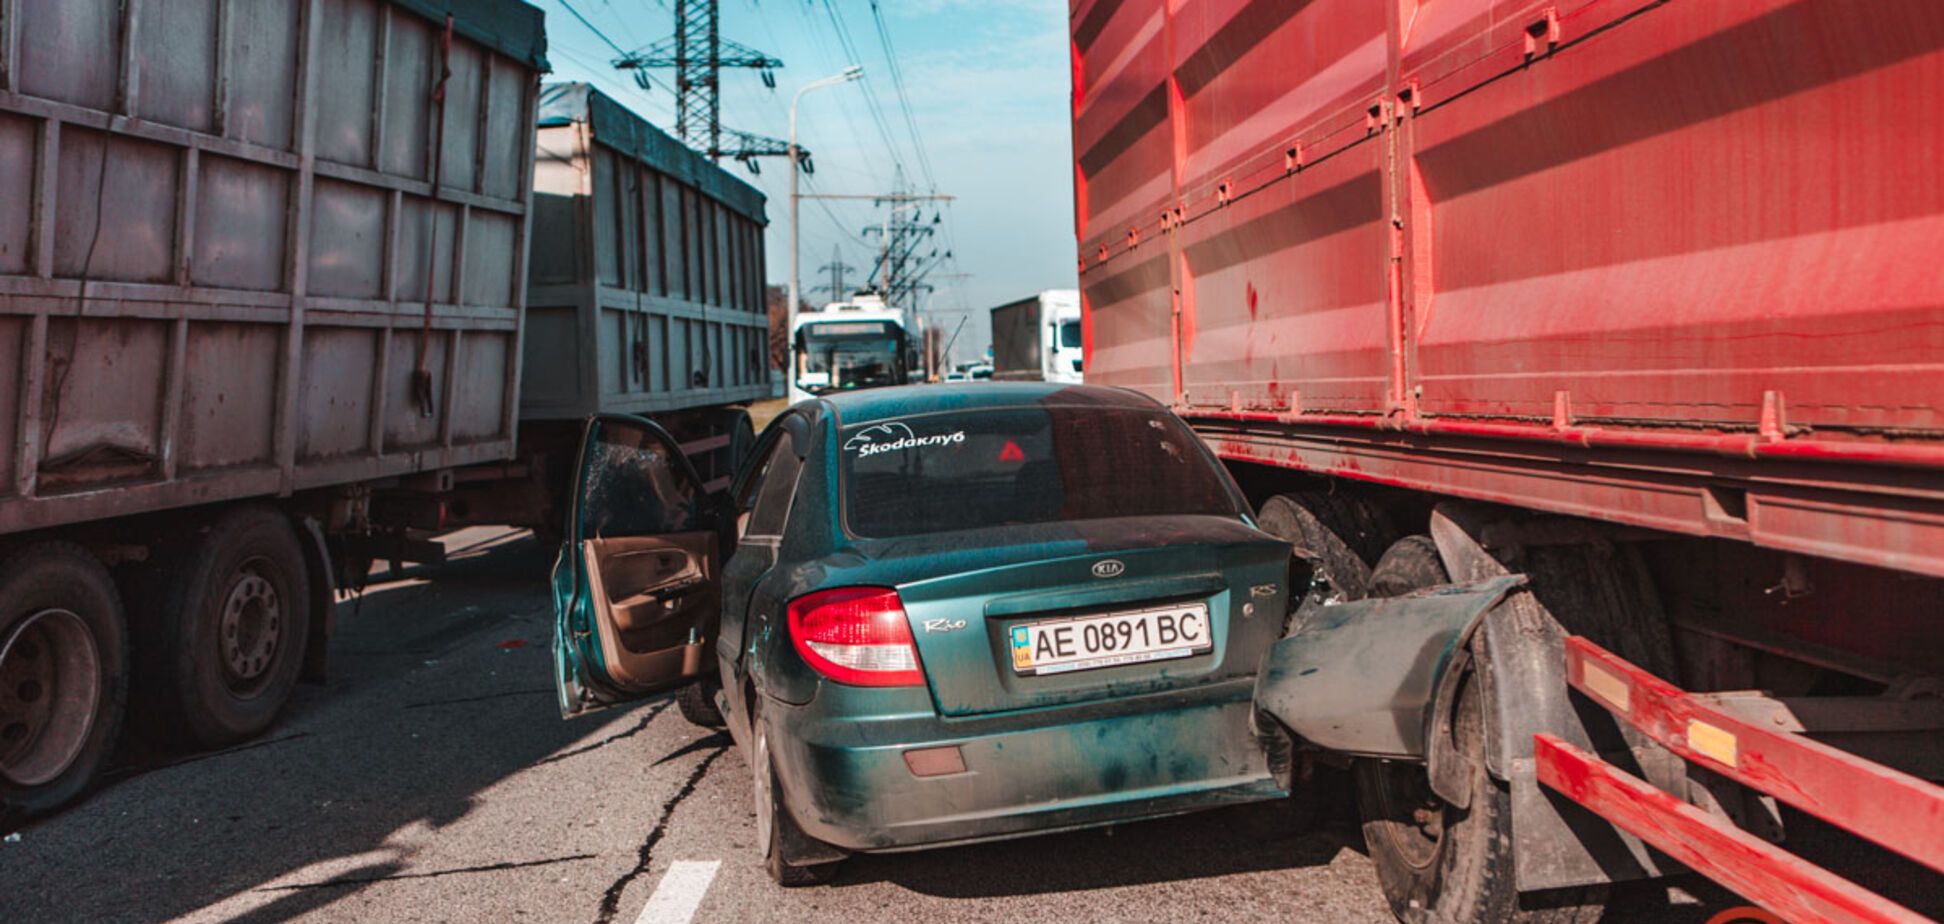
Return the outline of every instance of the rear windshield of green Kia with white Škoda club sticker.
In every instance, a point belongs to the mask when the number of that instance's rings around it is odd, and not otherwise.
[[[842,430],[851,535],[1061,519],[1236,515],[1221,469],[1166,410],[1024,407]]]

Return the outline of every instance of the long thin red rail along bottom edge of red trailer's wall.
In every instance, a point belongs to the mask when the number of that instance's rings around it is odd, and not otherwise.
[[[1423,436],[1470,436],[1483,440],[1528,440],[1569,444],[1588,449],[1672,449],[1732,459],[1802,459],[1857,465],[1944,467],[1944,445],[1884,444],[1841,440],[1771,440],[1761,434],[1693,434],[1674,430],[1612,430],[1602,426],[1542,426],[1518,422],[1415,418],[1378,414],[1283,414],[1273,410],[1180,409],[1190,420],[1234,420],[1244,424],[1349,426]]]

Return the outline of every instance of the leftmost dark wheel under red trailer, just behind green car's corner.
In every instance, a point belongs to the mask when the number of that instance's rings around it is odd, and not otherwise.
[[[1353,494],[1322,490],[1266,500],[1256,525],[1295,543],[1295,554],[1310,562],[1310,595],[1336,599],[1361,599],[1369,591],[1371,562],[1394,535],[1390,517],[1376,506]],[[1293,587],[1289,597],[1293,609],[1302,603]]]

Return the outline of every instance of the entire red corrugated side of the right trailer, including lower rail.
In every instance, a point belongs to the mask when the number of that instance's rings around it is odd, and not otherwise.
[[[1944,574],[1944,8],[1081,0],[1091,381],[1231,459]]]

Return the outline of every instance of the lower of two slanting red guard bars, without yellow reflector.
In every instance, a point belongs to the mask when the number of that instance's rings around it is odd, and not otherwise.
[[[1787,920],[1927,920],[1553,735],[1532,739],[1542,784]]]

